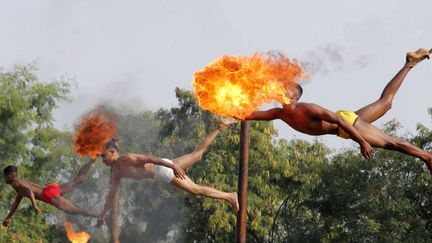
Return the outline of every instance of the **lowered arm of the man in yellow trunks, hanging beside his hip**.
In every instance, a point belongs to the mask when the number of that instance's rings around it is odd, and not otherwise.
[[[314,108],[316,109],[315,112],[318,114],[320,119],[329,123],[337,124],[351,137],[352,140],[356,141],[360,145],[361,153],[365,158],[370,158],[372,156],[372,147],[353,126],[327,109],[318,106]]]

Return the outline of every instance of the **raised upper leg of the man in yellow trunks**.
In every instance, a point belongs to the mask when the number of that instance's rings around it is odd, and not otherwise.
[[[383,92],[381,93],[380,98],[372,104],[359,109],[355,113],[367,123],[372,123],[378,118],[382,117],[388,110],[390,110],[393,103],[393,98],[396,95],[396,92],[399,90],[399,87],[401,86],[402,81],[405,79],[408,72],[412,67],[424,60],[428,55],[429,52],[426,49],[419,49],[416,52],[408,53],[404,67],[386,85]]]

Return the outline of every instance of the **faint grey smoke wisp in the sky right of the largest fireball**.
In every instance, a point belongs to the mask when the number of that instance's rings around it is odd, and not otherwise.
[[[305,70],[312,75],[328,75],[331,72],[363,69],[372,63],[370,54],[359,54],[340,44],[318,45],[300,59]]]

